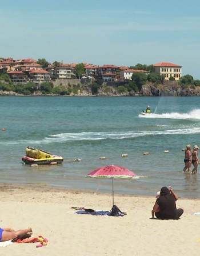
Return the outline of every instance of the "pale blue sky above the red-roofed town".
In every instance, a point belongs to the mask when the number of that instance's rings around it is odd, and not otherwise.
[[[200,79],[199,0],[0,0],[0,57],[134,66]]]

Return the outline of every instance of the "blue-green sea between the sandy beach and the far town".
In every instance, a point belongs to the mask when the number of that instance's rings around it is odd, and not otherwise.
[[[154,196],[171,186],[179,197],[199,198],[200,169],[182,172],[183,149],[200,146],[199,103],[199,97],[1,96],[0,182],[112,193],[111,178],[86,175],[118,165],[139,178],[115,178],[114,194]],[[152,114],[141,115],[147,105]],[[64,161],[25,165],[27,146]]]

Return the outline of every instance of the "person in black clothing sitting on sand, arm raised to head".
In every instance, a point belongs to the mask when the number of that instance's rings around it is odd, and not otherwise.
[[[167,187],[162,187],[160,196],[153,207],[155,216],[158,219],[179,219],[184,210],[182,208],[177,209],[175,204],[177,200],[178,195],[174,193],[172,187],[170,190]]]

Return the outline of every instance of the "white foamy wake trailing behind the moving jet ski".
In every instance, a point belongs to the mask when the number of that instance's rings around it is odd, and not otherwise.
[[[195,119],[195,120],[200,120],[200,109],[193,110],[190,113],[172,112],[172,113],[162,113],[162,114],[152,113],[151,115],[139,114],[138,117],[140,117],[140,118],[168,118],[168,119]]]

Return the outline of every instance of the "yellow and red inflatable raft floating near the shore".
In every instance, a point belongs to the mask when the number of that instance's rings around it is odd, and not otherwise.
[[[27,165],[56,165],[62,163],[63,158],[41,149],[26,147],[26,155],[22,157],[22,161]]]

